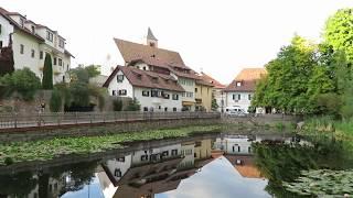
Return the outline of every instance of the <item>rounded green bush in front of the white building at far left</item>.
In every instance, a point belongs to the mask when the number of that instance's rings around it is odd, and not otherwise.
[[[41,87],[41,80],[29,68],[23,68],[1,77],[0,85],[4,87],[3,95],[7,97],[19,92],[24,100],[32,100]]]

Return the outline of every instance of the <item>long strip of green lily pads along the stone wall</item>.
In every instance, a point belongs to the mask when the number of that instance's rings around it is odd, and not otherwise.
[[[87,154],[122,147],[121,143],[189,136],[221,130],[221,125],[186,127],[180,129],[151,130],[118,133],[105,136],[62,138],[42,141],[11,142],[0,144],[0,165],[19,162],[47,161],[66,154]]]

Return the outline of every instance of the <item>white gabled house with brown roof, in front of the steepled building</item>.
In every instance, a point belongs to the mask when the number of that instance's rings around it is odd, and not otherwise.
[[[117,66],[104,87],[110,96],[136,98],[141,111],[181,111],[184,89],[172,76]]]

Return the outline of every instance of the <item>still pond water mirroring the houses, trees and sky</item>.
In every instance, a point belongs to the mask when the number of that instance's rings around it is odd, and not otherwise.
[[[126,146],[95,156],[0,167],[0,198],[320,197],[320,191],[298,190],[303,170],[350,175],[353,168],[342,142],[282,133],[218,133]],[[352,180],[347,183],[332,195],[352,196]]]

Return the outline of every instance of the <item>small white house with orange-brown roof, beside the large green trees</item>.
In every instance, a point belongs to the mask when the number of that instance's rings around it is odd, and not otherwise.
[[[265,68],[245,68],[225,89],[226,107],[238,106],[245,112],[252,106],[256,82],[266,75]]]

